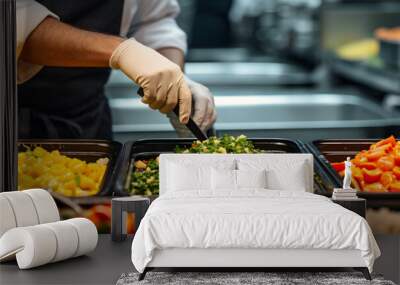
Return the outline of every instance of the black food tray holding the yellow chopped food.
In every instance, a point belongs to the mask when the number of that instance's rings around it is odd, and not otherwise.
[[[36,146],[43,147],[47,151],[58,150],[61,154],[72,158],[78,158],[86,162],[96,162],[99,158],[108,158],[107,169],[96,196],[111,196],[116,174],[120,164],[122,144],[115,141],[104,140],[20,140],[18,151]],[[89,197],[70,197],[79,203]]]

